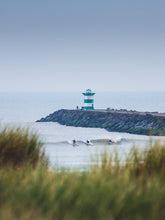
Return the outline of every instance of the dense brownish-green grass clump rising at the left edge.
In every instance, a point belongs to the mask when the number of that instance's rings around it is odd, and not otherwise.
[[[0,167],[35,167],[38,163],[46,165],[48,158],[36,133],[19,127],[0,131]]]

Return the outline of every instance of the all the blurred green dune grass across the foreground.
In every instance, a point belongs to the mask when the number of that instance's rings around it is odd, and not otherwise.
[[[101,165],[88,172],[49,170],[35,134],[5,129],[0,134],[0,219],[165,219],[165,143],[148,145],[143,152],[132,150],[124,163],[117,154],[105,153]]]

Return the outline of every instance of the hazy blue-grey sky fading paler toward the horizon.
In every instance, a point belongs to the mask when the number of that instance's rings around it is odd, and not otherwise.
[[[0,91],[164,85],[164,0],[0,0]]]

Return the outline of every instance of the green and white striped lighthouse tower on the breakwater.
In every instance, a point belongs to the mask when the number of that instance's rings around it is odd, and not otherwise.
[[[84,95],[84,107],[83,109],[88,110],[94,109],[94,95],[95,93],[92,92],[91,89],[87,89],[86,92],[82,93]]]

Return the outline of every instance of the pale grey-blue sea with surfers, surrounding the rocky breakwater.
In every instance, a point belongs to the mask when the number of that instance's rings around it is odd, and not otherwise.
[[[76,109],[83,105],[81,92],[1,92],[0,124],[3,126],[29,128],[39,134],[51,168],[89,169],[100,163],[105,152],[118,153],[124,160],[131,149],[146,149],[149,142],[165,137],[108,132],[100,128],[63,126],[56,122],[36,120],[59,109]],[[127,109],[147,112],[165,112],[165,92],[97,92],[96,109]],[[76,146],[73,146],[76,140]],[[90,145],[86,145],[86,141]],[[109,143],[109,140],[112,142]]]

